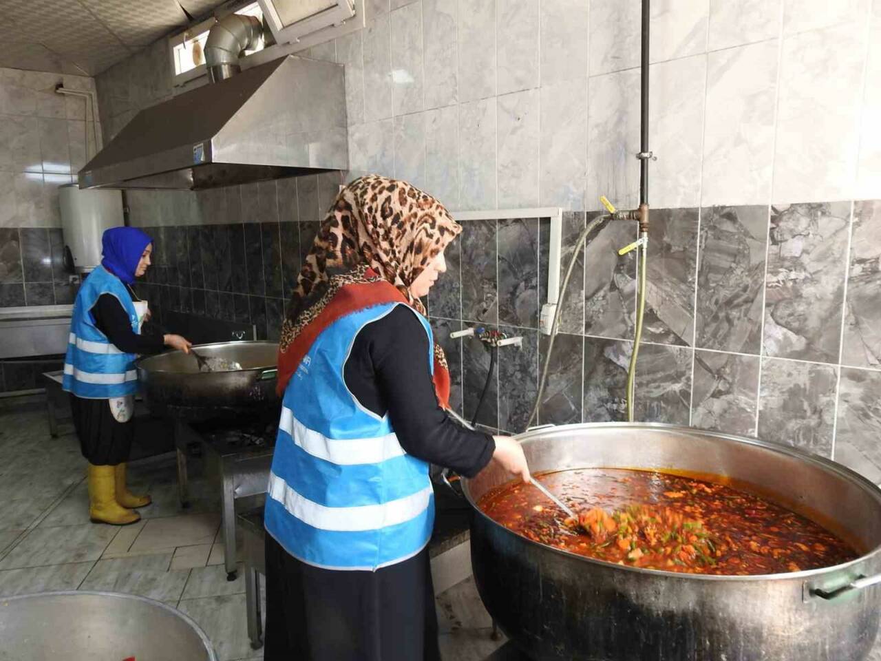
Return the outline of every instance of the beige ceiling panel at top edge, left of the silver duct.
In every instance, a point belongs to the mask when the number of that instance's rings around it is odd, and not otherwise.
[[[80,0],[126,46],[151,44],[175,28],[187,25],[187,15],[176,0]]]

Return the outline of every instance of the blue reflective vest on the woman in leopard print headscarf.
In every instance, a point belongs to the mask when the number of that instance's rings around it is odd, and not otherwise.
[[[329,325],[285,389],[266,530],[316,567],[386,567],[419,553],[432,534],[428,464],[403,451],[388,413],[379,417],[360,405],[344,382],[358,332],[396,305],[365,308]],[[413,314],[428,334],[433,370],[431,326]]]

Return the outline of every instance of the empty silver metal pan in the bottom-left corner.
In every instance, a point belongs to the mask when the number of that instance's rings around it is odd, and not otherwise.
[[[217,661],[211,642],[169,605],[113,592],[0,599],[0,661]]]

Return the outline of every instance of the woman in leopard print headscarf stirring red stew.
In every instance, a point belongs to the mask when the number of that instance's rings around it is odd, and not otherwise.
[[[279,344],[267,661],[440,659],[428,465],[473,476],[494,460],[529,479],[513,440],[443,411],[420,299],[461,231],[433,197],[371,175],[340,192],[308,253]]]

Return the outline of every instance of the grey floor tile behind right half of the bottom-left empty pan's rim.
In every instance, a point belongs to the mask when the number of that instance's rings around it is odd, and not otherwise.
[[[181,598],[189,570],[169,571],[171,553],[135,558],[100,560],[86,576],[80,590],[107,590],[137,594],[157,601]]]

